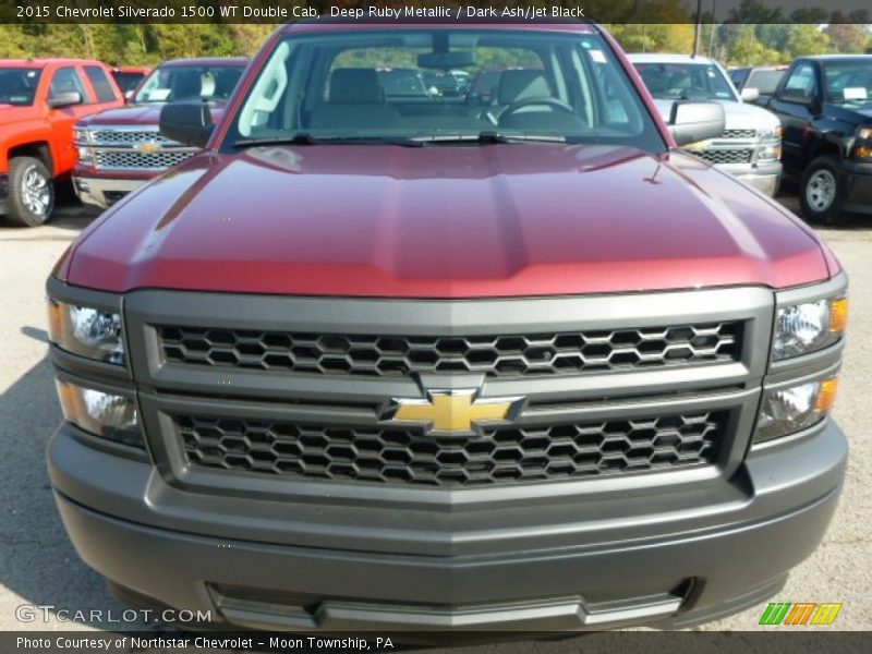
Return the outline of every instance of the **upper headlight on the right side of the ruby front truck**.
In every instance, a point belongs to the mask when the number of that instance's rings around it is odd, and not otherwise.
[[[845,332],[848,299],[829,298],[778,310],[772,359],[779,361],[832,346]]]

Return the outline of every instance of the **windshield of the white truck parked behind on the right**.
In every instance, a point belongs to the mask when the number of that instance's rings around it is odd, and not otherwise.
[[[633,63],[651,95],[659,100],[737,100],[713,63]]]

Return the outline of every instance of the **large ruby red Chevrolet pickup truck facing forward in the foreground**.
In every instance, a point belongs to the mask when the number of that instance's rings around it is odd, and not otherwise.
[[[509,62],[509,65],[507,65]],[[379,70],[501,68],[474,95]],[[591,24],[279,28],[48,281],[66,530],[227,627],[686,626],[814,549],[847,278]]]

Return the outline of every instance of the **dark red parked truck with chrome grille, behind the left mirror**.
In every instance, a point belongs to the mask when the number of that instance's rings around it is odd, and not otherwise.
[[[242,57],[167,61],[140,84],[126,107],[80,121],[78,164],[73,171],[80,199],[105,209],[196,153],[195,147],[160,136],[160,108],[197,98],[209,102],[218,120],[246,63]]]

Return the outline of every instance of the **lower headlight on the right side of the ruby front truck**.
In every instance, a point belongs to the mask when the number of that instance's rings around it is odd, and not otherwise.
[[[837,389],[838,380],[827,377],[764,391],[754,443],[787,436],[823,420],[833,408]]]

